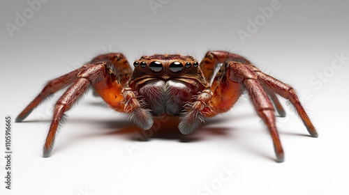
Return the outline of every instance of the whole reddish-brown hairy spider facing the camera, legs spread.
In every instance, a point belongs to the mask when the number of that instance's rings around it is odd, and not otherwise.
[[[153,116],[177,116],[182,134],[194,132],[205,118],[229,111],[247,91],[272,137],[276,162],[283,162],[284,153],[276,130],[275,111],[285,116],[276,94],[295,107],[309,134],[318,137],[293,88],[261,72],[238,54],[210,51],[200,63],[192,56],[154,54],[142,56],[133,66],[134,70],[121,53],[96,56],[81,68],[48,81],[16,122],[24,120],[47,97],[69,86],[54,106],[43,146],[43,157],[49,157],[64,113],[90,86],[110,108],[129,114],[142,130],[151,128]],[[219,70],[215,74],[216,69]]]

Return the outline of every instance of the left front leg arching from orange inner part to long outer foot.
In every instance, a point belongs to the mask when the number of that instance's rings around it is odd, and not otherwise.
[[[64,113],[87,91],[90,85],[112,109],[131,113],[138,126],[149,129],[153,124],[149,112],[140,107],[132,91],[124,92],[117,80],[117,75],[107,63],[102,61],[86,66],[87,68],[77,75],[75,82],[64,92],[54,107],[52,123],[43,148],[44,157],[50,156],[57,127],[64,121]]]

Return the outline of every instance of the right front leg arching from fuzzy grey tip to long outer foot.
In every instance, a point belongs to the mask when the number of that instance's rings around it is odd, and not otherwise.
[[[276,130],[274,107],[264,88],[260,85],[257,74],[246,64],[227,61],[216,74],[214,83],[216,85],[211,88],[212,92],[207,89],[199,95],[191,111],[188,111],[179,123],[179,130],[182,127],[181,132],[190,133],[195,130],[190,125],[196,128],[198,125],[195,125],[195,123],[193,125],[193,122],[200,122],[198,118],[210,117],[229,111],[246,89],[255,111],[267,125],[274,143],[277,161],[283,162],[283,148],[279,133]]]

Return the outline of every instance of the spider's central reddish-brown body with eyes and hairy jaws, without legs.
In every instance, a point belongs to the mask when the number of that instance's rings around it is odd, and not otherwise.
[[[142,56],[133,63],[135,70],[128,86],[146,102],[145,107],[156,116],[178,116],[184,104],[207,88],[198,61],[191,56]]]

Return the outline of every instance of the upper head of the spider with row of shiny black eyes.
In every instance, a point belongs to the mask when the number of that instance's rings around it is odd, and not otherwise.
[[[142,56],[133,63],[135,70],[129,84],[145,82],[153,79],[195,79],[205,84],[197,60],[193,56],[180,54],[154,54]]]

